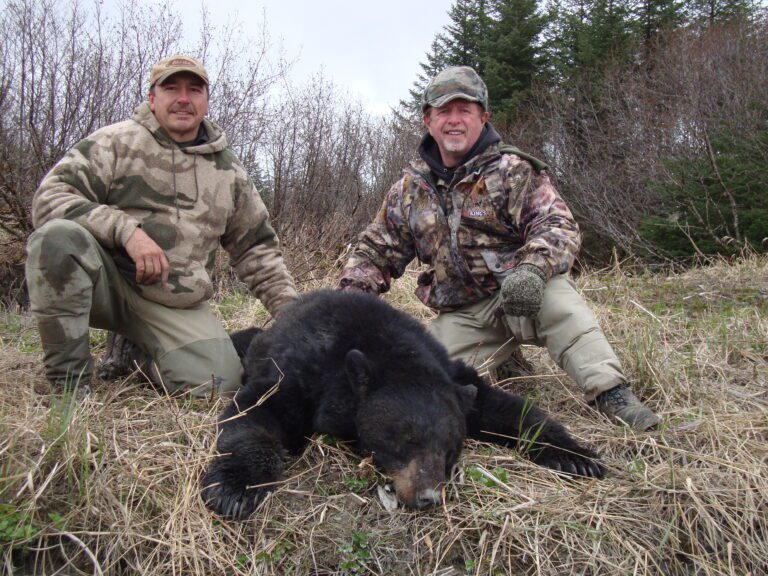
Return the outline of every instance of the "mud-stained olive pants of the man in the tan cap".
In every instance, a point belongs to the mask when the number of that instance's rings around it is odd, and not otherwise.
[[[153,359],[169,393],[208,396],[240,386],[242,367],[207,303],[176,309],[140,297],[82,226],[52,220],[27,243],[27,285],[53,383],[90,382],[88,328],[123,334]]]

